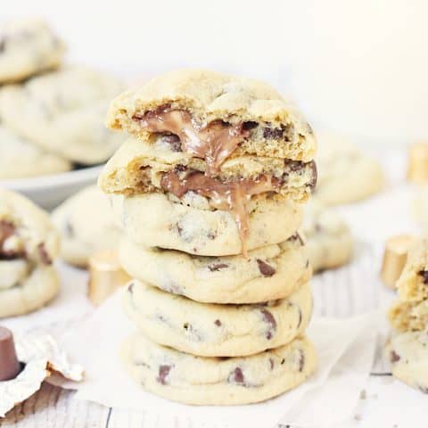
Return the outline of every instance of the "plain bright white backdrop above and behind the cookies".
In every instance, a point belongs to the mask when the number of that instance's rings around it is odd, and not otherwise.
[[[45,16],[70,59],[129,76],[213,67],[270,80],[363,143],[428,137],[425,0],[0,0]]]

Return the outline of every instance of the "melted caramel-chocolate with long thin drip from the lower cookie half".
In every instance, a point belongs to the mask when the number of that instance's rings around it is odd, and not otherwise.
[[[201,194],[210,198],[213,208],[230,212],[238,226],[243,243],[243,255],[246,257],[246,240],[250,230],[247,202],[254,194],[275,191],[279,186],[279,180],[269,175],[261,175],[254,180],[241,179],[222,183],[198,171],[190,172],[184,178],[178,177],[176,171],[170,171],[161,178],[161,186],[175,194],[177,198],[181,198],[189,191]]]

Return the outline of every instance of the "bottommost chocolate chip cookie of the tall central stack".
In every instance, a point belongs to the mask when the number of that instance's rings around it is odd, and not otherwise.
[[[138,334],[124,344],[122,358],[147,391],[193,405],[264,401],[303,383],[317,367],[316,351],[305,337],[250,357],[203,358]]]

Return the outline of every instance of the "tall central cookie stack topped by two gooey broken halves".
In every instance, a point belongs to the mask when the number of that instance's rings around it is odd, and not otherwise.
[[[99,179],[125,231],[138,333],[123,350],[147,391],[198,405],[304,382],[311,268],[297,229],[316,184],[308,123],[270,86],[178,70],[111,103],[129,134]]]

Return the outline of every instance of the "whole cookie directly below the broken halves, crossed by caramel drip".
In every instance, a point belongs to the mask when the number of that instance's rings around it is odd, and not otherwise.
[[[116,218],[135,243],[185,251],[202,256],[227,256],[242,252],[235,218],[225,210],[212,210],[200,195],[186,193],[179,200],[166,193],[135,196],[111,195]],[[246,247],[286,241],[301,221],[300,204],[274,198],[251,200]]]

